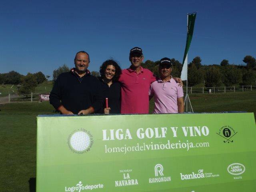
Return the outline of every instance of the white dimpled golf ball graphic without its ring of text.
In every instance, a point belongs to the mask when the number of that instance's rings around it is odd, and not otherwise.
[[[86,132],[75,132],[70,138],[70,145],[76,151],[84,151],[90,145],[90,137]]]

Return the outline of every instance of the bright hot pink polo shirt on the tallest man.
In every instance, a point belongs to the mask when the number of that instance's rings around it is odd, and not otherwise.
[[[119,78],[121,83],[121,114],[148,114],[148,91],[150,84],[156,80],[153,73],[140,67],[140,72],[128,68],[122,70]]]

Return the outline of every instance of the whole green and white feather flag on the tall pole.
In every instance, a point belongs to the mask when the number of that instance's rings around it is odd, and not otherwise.
[[[188,80],[188,50],[191,44],[193,31],[194,31],[194,25],[196,20],[196,13],[188,14],[188,31],[187,31],[187,41],[186,41],[186,48],[184,52],[183,57],[183,67],[180,78],[182,80]]]

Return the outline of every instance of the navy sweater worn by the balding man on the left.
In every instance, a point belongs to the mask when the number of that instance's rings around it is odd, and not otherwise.
[[[102,108],[103,103],[101,84],[98,79],[90,75],[89,71],[80,78],[74,72],[74,68],[58,76],[49,98],[50,104],[56,110],[63,105],[74,114],[90,106],[96,112]]]

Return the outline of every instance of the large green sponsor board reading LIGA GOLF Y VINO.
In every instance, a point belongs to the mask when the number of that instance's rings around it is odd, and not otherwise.
[[[39,116],[37,192],[255,192],[253,113]]]

